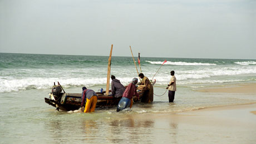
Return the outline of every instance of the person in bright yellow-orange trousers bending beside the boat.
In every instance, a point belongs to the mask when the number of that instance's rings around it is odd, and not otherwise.
[[[83,112],[93,112],[97,103],[97,94],[95,91],[87,89],[86,87],[82,88],[82,101],[81,107],[85,106],[85,110]],[[82,111],[82,109],[81,109]]]

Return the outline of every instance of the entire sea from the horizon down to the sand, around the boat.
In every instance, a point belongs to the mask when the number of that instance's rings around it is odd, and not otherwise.
[[[167,62],[162,65],[164,60]],[[66,92],[81,93],[82,86],[95,91],[106,90],[108,56],[0,53],[0,143],[157,143],[159,138],[172,141],[171,135],[155,136],[159,128],[157,122],[141,123],[132,117],[256,101],[253,94],[196,91],[256,83],[256,60],[146,58],[141,55],[140,62],[142,73],[156,80],[154,102],[134,104],[132,109],[122,112],[110,107],[83,114],[56,111],[44,98],[57,81]],[[140,73],[139,65],[137,68]],[[165,89],[171,70],[175,71],[177,79],[174,103],[168,102]],[[131,57],[112,56],[111,75],[124,85],[138,78]],[[169,129],[163,132],[176,130],[173,124],[167,127]]]

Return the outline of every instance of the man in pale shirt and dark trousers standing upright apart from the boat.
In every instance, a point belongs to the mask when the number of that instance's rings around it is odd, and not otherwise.
[[[169,102],[173,102],[175,91],[176,91],[176,77],[174,76],[174,71],[173,70],[171,71],[170,83],[169,83],[169,85],[166,89],[169,90],[169,92],[168,92]]]

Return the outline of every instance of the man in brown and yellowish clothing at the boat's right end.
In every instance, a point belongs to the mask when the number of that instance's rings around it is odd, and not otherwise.
[[[140,73],[139,74],[141,80],[141,85],[144,85],[145,92],[141,98],[141,102],[152,102],[154,100],[154,89],[153,86],[150,82],[150,80],[144,76],[144,74]]]

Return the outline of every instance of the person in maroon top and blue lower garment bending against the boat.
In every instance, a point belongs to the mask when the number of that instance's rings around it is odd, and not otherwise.
[[[124,94],[122,95],[122,99],[119,101],[119,104],[117,105],[116,111],[119,112],[120,110],[124,110],[126,107],[130,106],[132,107],[133,100],[132,96],[136,96],[139,99],[139,94],[136,91],[136,84],[138,83],[137,78],[133,78],[131,83],[127,86],[125,89]]]

